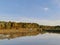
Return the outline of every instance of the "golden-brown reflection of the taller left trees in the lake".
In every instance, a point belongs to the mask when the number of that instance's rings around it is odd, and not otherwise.
[[[5,33],[5,34],[0,34],[0,39],[14,39],[17,37],[36,36],[40,33],[43,34],[42,32]]]

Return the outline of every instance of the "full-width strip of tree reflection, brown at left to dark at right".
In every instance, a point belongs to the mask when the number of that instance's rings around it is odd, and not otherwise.
[[[17,33],[3,33],[0,34],[0,39],[14,39],[18,37],[25,37],[25,36],[36,36],[38,34],[44,34],[44,33],[60,33],[57,31],[35,31],[35,32],[17,32]]]

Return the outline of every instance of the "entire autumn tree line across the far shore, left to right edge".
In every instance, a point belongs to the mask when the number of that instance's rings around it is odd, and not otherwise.
[[[60,30],[60,26],[45,26],[37,23],[23,23],[23,22],[5,22],[0,21],[0,29],[19,29],[19,28],[40,28],[43,30]]]

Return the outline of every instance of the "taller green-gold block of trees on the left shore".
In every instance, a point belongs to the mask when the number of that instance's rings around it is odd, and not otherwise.
[[[38,28],[36,23],[22,23],[22,22],[4,22],[0,21],[0,29],[19,29],[19,28]]]

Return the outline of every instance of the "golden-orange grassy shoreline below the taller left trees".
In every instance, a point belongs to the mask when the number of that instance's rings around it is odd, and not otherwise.
[[[28,29],[28,28],[20,28],[20,29],[0,29],[0,34],[3,33],[27,33],[27,32],[38,32],[37,28],[35,29]]]

